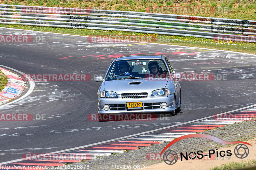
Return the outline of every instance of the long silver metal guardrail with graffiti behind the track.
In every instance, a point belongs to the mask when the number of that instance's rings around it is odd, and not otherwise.
[[[74,15],[75,14],[75,15]],[[165,35],[217,37],[252,42],[256,21],[133,11],[0,4],[1,24],[116,30]],[[256,42],[256,39],[254,39]]]

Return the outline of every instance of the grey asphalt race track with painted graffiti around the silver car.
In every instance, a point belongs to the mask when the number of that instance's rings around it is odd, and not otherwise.
[[[90,81],[35,81],[33,92],[0,113],[45,114],[45,120],[1,121],[0,162],[133,135],[256,103],[255,55],[140,42],[88,42],[87,37],[1,28],[0,35],[46,36],[46,42],[0,43],[0,65],[26,74],[90,74]],[[176,73],[214,74],[221,80],[180,81],[182,110],[155,121],[98,122],[95,75],[112,57],[165,55]],[[227,80],[223,81],[226,77]]]

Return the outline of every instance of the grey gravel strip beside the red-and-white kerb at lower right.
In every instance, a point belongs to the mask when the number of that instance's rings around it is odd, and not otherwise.
[[[256,120],[243,121],[235,124],[228,124],[227,126],[218,127],[217,129],[201,132],[201,134],[208,134],[220,138],[224,141],[247,141],[256,138]],[[102,170],[111,169],[111,165],[148,165],[161,163],[161,160],[147,160],[147,153],[161,153],[164,147],[169,142],[151,145],[148,147],[141,147],[137,150],[131,150],[124,153],[112,154],[110,156],[103,156],[97,159],[85,160],[75,165],[89,165],[89,169]],[[237,144],[235,144],[237,145]],[[191,152],[191,151],[208,151],[209,149],[218,149],[221,147],[228,147],[230,145],[223,145],[218,142],[205,138],[187,138],[182,139],[167,150],[174,150],[175,152]],[[166,150],[166,151],[167,151]],[[113,169],[113,167],[112,167]]]

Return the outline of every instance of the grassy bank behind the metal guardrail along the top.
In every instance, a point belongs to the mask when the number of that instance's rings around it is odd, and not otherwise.
[[[0,0],[0,4],[86,7],[91,9],[147,11],[148,7],[212,7],[210,13],[178,13],[180,15],[195,15],[204,17],[234,18],[256,20],[255,0]],[[177,14],[177,13],[176,13]]]

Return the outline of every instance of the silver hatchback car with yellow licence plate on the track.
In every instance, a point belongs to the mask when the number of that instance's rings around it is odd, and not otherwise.
[[[98,90],[100,114],[169,112],[180,110],[179,73],[164,55],[131,55],[111,62]]]

